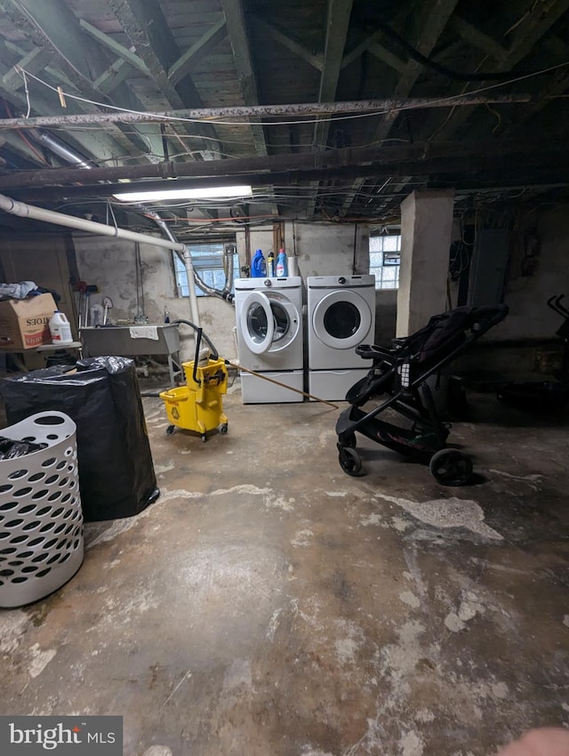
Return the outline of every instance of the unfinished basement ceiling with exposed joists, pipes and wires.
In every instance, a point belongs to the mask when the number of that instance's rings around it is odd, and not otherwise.
[[[225,217],[388,223],[413,189],[569,186],[569,0],[0,9],[0,193],[31,204],[143,227],[112,199],[123,181],[252,184],[247,201],[160,205],[186,237]]]

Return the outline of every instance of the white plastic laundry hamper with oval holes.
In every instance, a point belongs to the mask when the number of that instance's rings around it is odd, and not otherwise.
[[[0,607],[22,607],[67,583],[83,561],[76,424],[41,412],[0,436],[47,444],[0,460]]]

